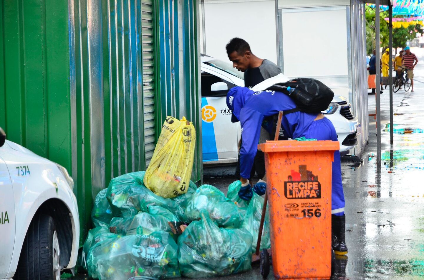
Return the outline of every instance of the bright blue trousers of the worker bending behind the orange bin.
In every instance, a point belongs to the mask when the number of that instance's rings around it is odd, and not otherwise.
[[[307,131],[301,136],[315,138],[316,140],[337,141],[336,130],[328,118],[313,121]],[[345,201],[340,170],[340,151],[334,152],[334,161],[332,163],[331,203],[331,214],[343,216]]]

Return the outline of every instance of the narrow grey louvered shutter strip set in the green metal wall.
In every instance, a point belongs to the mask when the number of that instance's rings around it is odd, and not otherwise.
[[[153,1],[142,0],[141,11],[144,145],[147,167],[155,149]]]

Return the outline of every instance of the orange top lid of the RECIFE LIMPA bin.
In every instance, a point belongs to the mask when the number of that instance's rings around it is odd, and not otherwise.
[[[258,145],[258,149],[263,152],[304,152],[304,151],[338,151],[340,145],[338,141],[266,141]]]

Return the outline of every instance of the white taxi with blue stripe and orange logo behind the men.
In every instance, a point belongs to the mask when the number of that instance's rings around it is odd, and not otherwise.
[[[237,162],[240,123],[231,122],[226,94],[234,86],[244,86],[244,73],[231,63],[201,55],[202,151],[204,164]],[[348,154],[357,145],[357,118],[343,96],[335,96],[323,112],[335,126],[340,154]]]

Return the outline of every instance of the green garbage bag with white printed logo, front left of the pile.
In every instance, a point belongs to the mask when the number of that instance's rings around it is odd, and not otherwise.
[[[104,242],[90,253],[97,255],[94,263],[97,277],[90,275],[95,279],[164,279],[181,276],[177,244],[164,231],[124,236],[113,242]]]

